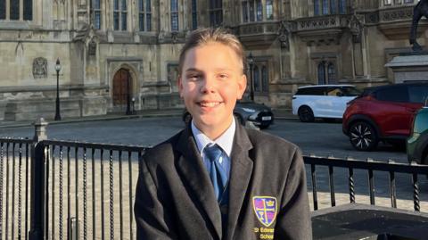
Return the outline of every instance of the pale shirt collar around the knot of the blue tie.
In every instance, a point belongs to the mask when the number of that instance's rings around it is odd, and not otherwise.
[[[210,144],[217,144],[227,154],[227,157],[230,157],[235,137],[235,118],[232,118],[232,123],[230,124],[229,128],[227,128],[226,131],[215,141],[211,140],[210,137],[207,137],[205,134],[202,133],[201,130],[196,128],[193,123],[193,120],[191,123],[191,128],[193,132],[193,137],[196,141],[196,145],[198,146],[199,153],[202,153],[202,150],[205,148],[205,146]]]

